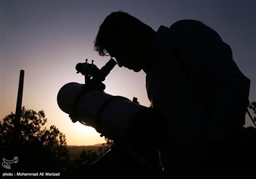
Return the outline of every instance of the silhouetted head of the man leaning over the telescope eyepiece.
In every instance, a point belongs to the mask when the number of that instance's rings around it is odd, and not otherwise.
[[[99,27],[95,51],[115,58],[119,66],[139,72],[147,63],[155,31],[125,12],[113,12]]]

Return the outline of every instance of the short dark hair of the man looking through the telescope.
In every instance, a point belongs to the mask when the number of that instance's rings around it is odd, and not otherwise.
[[[109,14],[99,27],[98,34],[94,40],[94,49],[100,56],[107,56],[106,45],[108,42],[125,40],[133,36],[139,37],[145,31],[152,30],[140,20],[129,13],[118,11]]]

